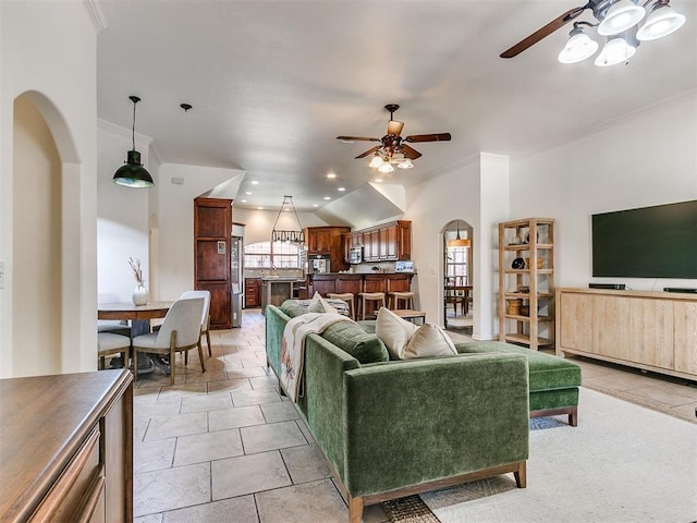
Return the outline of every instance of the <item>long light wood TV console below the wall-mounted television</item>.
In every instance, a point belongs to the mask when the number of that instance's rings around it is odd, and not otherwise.
[[[697,380],[697,294],[557,289],[557,354]]]

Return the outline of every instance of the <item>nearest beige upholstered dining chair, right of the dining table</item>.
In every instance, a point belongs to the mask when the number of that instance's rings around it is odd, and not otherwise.
[[[196,297],[175,301],[164,316],[164,321],[157,332],[136,336],[133,339],[133,372],[138,379],[138,353],[169,355],[170,384],[174,385],[175,361],[178,352],[187,354],[191,349],[198,348],[200,370],[206,372],[204,351],[200,345],[200,318],[205,300]],[[185,364],[187,360],[185,358]]]

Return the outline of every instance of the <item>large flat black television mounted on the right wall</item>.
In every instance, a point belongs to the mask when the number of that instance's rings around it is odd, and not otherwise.
[[[697,200],[591,217],[592,276],[697,279]]]

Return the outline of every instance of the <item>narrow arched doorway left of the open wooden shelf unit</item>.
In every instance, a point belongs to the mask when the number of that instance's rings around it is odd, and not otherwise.
[[[443,325],[472,335],[473,228],[456,219],[443,228]]]

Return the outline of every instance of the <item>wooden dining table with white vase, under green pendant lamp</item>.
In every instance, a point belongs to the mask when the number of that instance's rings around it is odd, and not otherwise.
[[[150,332],[150,320],[167,316],[174,302],[156,301],[146,305],[136,305],[133,302],[100,303],[97,305],[97,319],[127,320],[131,321],[131,339],[136,336]],[[152,370],[154,365],[160,367],[169,374],[169,365],[161,356],[148,354],[147,357],[138,360],[138,374],[147,374]]]

